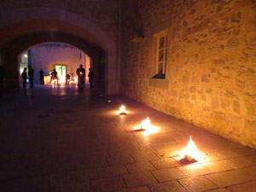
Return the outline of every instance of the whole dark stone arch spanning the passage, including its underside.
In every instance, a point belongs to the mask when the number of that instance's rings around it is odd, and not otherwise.
[[[91,20],[63,9],[21,8],[0,13],[0,51],[3,63],[14,65],[15,56],[32,45],[44,42],[72,44],[90,55],[97,67],[104,64],[108,94],[119,92],[119,65],[116,41]],[[29,27],[27,27],[29,26]],[[16,64],[17,65],[17,64]],[[103,74],[103,75],[104,75]],[[10,84],[17,84],[14,74]],[[102,82],[99,82],[102,84]]]

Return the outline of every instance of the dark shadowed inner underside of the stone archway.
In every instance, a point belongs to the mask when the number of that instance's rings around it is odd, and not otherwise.
[[[96,47],[95,45],[88,44],[81,38],[76,38],[62,32],[38,32],[22,36],[15,39],[14,42],[9,44],[8,47],[4,49],[6,61],[3,61],[3,63],[8,64],[7,68],[9,68],[9,74],[13,74],[11,77],[14,79],[9,79],[10,85],[17,84],[17,80],[19,80],[15,78],[16,76],[19,76],[19,74],[15,74],[15,71],[19,73],[19,70],[15,70],[15,68],[19,67],[17,62],[18,55],[24,52],[24,50],[31,48],[35,44],[42,44],[44,42],[62,42],[66,44],[72,44],[75,47],[83,50],[87,55],[90,56],[92,60],[92,66],[96,77],[96,88],[104,89],[106,51],[102,48]]]

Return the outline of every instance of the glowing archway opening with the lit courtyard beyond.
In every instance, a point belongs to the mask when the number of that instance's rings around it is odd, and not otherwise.
[[[44,44],[36,44],[29,49],[20,53],[18,57],[18,64],[20,64],[20,85],[21,73],[24,69],[31,66],[34,69],[33,84],[52,84],[50,74],[55,70],[59,83],[63,84],[77,84],[78,77],[76,70],[79,65],[82,65],[85,70],[85,83],[89,87],[90,68],[94,71],[92,66],[92,59],[83,50],[74,47],[71,44],[64,44],[60,42],[46,42]],[[100,68],[102,69],[102,67]],[[40,77],[41,74],[41,77]],[[44,77],[42,77],[44,75]],[[69,77],[69,81],[66,79]],[[97,77],[104,80],[104,77]],[[99,86],[100,88],[103,88]],[[102,89],[101,89],[102,90]]]

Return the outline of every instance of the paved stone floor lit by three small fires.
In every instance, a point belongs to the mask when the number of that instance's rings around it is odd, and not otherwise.
[[[115,113],[121,103],[130,114]],[[146,117],[157,132],[135,130]],[[3,96],[0,118],[1,192],[256,191],[255,150],[124,96],[16,90]],[[189,136],[201,160],[186,165]]]

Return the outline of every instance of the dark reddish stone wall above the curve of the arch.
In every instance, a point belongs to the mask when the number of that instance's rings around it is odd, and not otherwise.
[[[119,4],[117,0],[3,0],[0,2],[0,12],[23,8],[52,8],[71,11],[84,19],[91,20],[96,26],[101,26],[103,31],[112,36],[113,39],[115,39],[118,30],[117,13]]]

